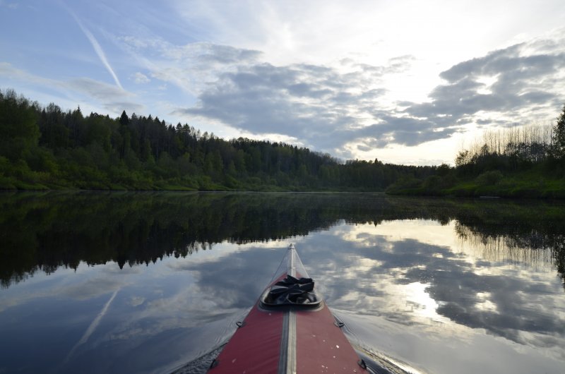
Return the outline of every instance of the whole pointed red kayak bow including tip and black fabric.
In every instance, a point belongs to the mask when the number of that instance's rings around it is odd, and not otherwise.
[[[295,246],[208,373],[367,373]]]

